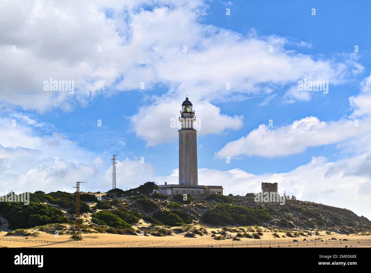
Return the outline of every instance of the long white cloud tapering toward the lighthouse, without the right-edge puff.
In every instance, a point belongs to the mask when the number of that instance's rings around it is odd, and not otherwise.
[[[351,120],[324,122],[314,116],[277,128],[261,124],[246,137],[227,143],[216,152],[216,156],[219,158],[237,155],[277,157],[297,154],[308,147],[335,144],[367,130],[370,130],[367,124],[356,127]]]

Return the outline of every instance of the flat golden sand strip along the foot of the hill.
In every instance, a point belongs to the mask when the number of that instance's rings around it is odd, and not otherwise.
[[[39,231],[36,237],[6,235],[6,232],[1,232],[0,247],[371,247],[370,236],[355,234],[275,238],[272,232],[265,232],[261,239],[240,238],[239,241],[234,239],[236,234],[231,233],[231,239],[215,240],[211,233],[197,235],[195,238],[184,237],[184,234],[157,237],[94,233],[83,234],[82,241],[73,241],[70,235],[60,235],[57,238],[54,234],[43,231]],[[303,241],[304,239],[306,240]]]

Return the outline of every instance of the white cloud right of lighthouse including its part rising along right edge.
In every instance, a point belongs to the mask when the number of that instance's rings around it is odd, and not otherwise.
[[[218,158],[235,157],[237,155],[259,155],[263,157],[279,157],[297,154],[308,147],[339,144],[339,147],[362,146],[367,151],[364,141],[369,138],[370,126],[370,86],[371,76],[362,81],[361,93],[349,98],[354,112],[338,121],[320,121],[315,116],[307,116],[296,120],[290,125],[268,126],[261,124],[245,137],[227,143],[215,153]],[[367,116],[365,116],[367,115]],[[363,116],[362,119],[351,119]],[[341,142],[347,141],[347,145]],[[367,142],[366,142],[367,143]]]

